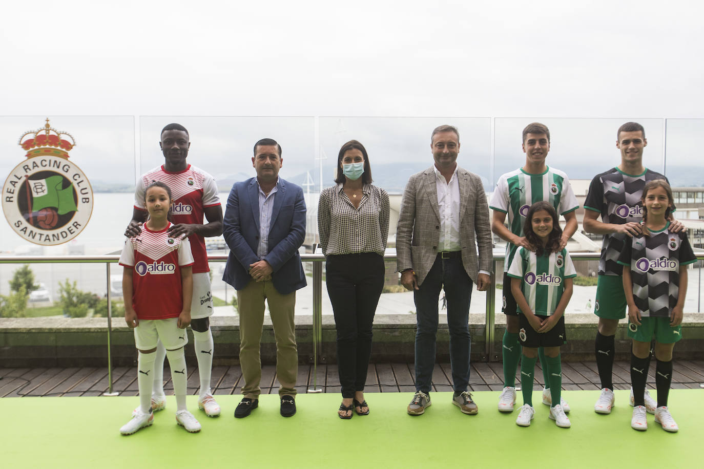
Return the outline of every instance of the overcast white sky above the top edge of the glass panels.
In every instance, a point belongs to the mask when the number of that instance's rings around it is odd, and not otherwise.
[[[704,117],[701,1],[14,1],[2,115]]]

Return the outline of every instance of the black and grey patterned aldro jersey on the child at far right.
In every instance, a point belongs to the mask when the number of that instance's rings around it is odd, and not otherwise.
[[[630,267],[633,299],[643,317],[670,317],[679,296],[679,266],[697,260],[686,233],[669,228],[668,221],[650,236],[634,236],[618,258],[621,266]]]

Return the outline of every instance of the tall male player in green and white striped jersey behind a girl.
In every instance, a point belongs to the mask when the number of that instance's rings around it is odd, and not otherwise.
[[[552,205],[555,210],[565,217],[567,222],[565,231],[560,238],[559,249],[565,248],[574,231],[577,231],[576,210],[579,208],[577,198],[574,196],[567,174],[548,167],[545,160],[550,151],[550,130],[539,122],[528,124],[523,129],[523,151],[526,154],[524,167],[503,174],[496,184],[496,190],[491,197],[489,207],[494,210],[491,221],[491,230],[505,240],[506,257],[503,267],[503,308],[506,315],[506,331],[503,335],[503,392],[498,401],[498,410],[512,412],[516,400],[515,375],[520,359],[521,349],[518,340],[519,313],[516,302],[510,289],[508,266],[518,248],[534,250],[523,233],[523,224],[529,207],[536,202],[544,200]],[[504,225],[508,215],[507,228]],[[543,390],[543,404],[551,404],[550,384],[547,375],[545,355],[539,352],[543,377],[546,389]],[[570,406],[562,399],[565,412],[570,411]]]

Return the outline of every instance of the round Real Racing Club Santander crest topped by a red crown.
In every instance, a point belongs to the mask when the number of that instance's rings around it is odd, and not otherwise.
[[[2,188],[8,223],[30,243],[49,246],[72,240],[93,212],[90,182],[68,160],[75,139],[46,119],[43,128],[22,134],[18,144],[27,150],[27,159],[12,170]]]

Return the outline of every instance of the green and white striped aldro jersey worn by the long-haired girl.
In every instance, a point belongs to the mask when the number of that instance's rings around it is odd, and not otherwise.
[[[513,257],[508,276],[522,279],[521,291],[534,314],[550,316],[565,291],[565,278],[576,277],[577,271],[566,249],[537,256],[535,252],[520,248]],[[510,285],[503,285],[503,288],[510,288]]]

